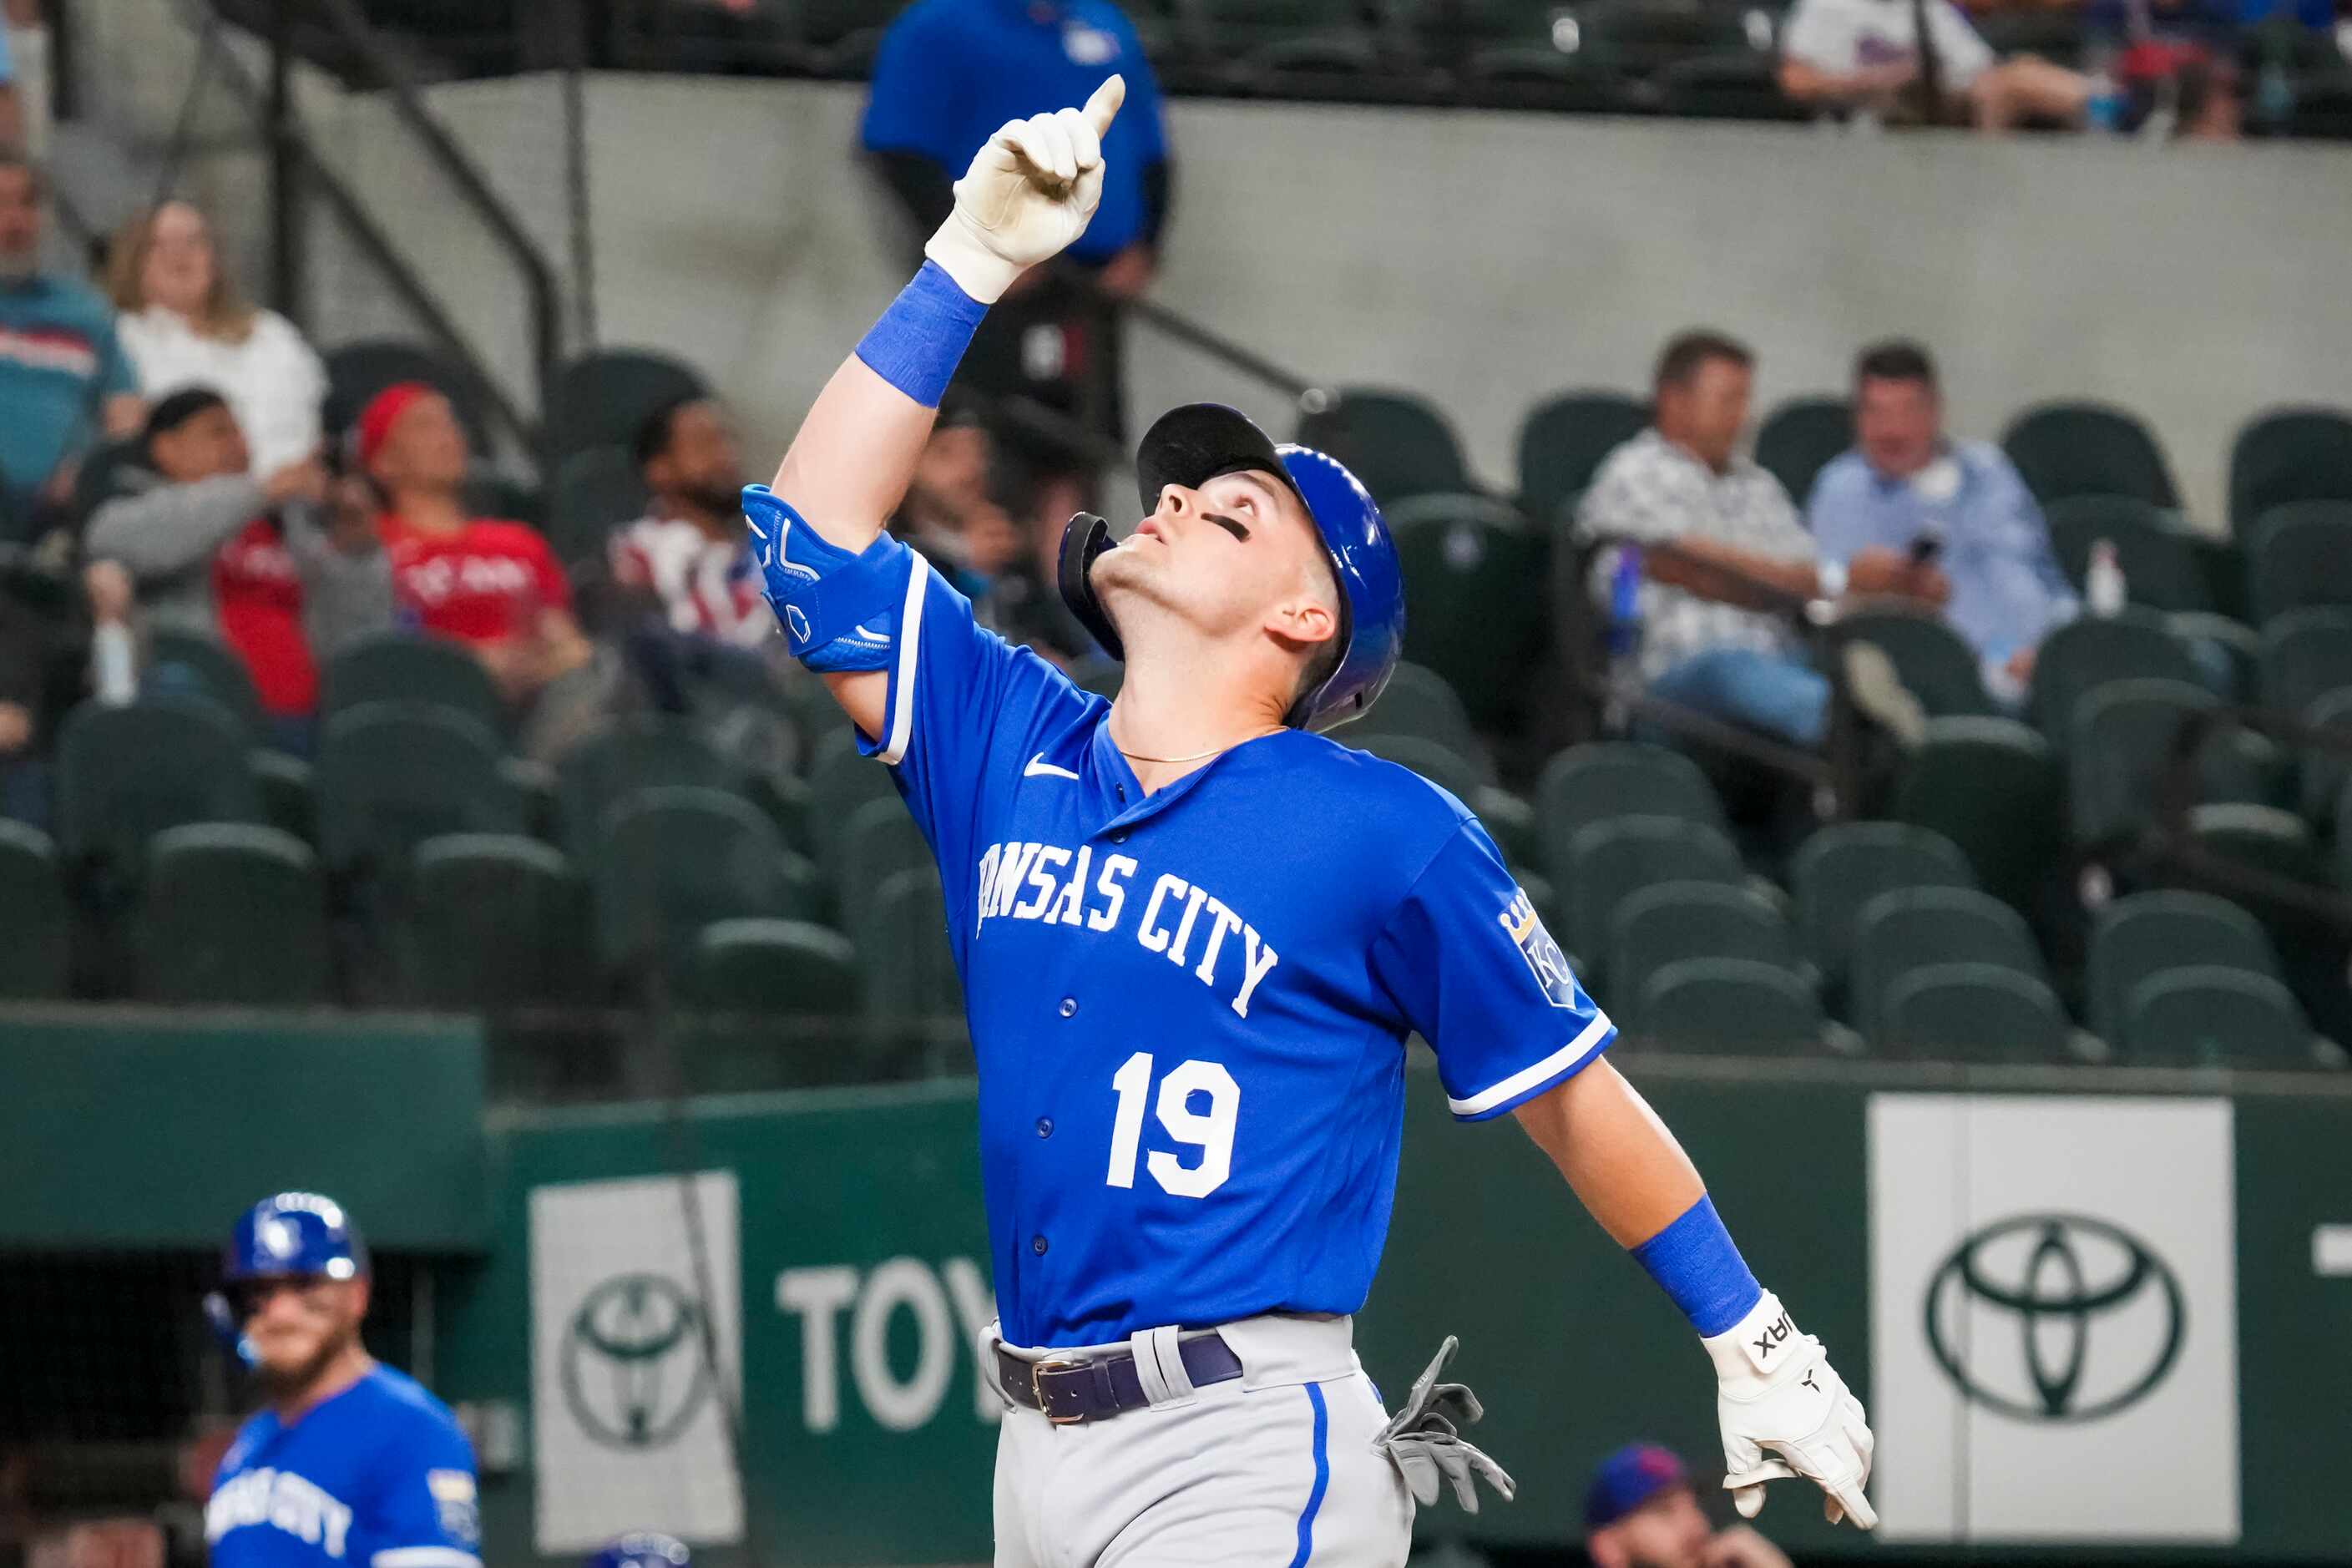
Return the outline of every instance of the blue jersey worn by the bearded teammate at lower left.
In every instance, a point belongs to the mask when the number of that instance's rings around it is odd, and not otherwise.
[[[212,1568],[482,1568],[473,1443],[379,1366],[292,1427],[238,1429],[205,1505]]]

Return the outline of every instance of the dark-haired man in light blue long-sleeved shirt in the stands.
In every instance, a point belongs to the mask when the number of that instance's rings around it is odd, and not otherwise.
[[[1936,362],[1905,341],[1875,343],[1853,362],[1853,451],[1820,470],[1806,503],[1820,555],[1851,569],[1889,550],[1933,550],[1950,581],[1945,621],[1976,646],[1987,689],[2023,698],[2034,649],[2082,604],[2009,454],[1943,435]]]

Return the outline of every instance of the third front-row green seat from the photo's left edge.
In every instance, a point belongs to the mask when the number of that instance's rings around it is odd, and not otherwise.
[[[536,839],[426,839],[395,938],[402,992],[461,1011],[593,1001],[583,905],[569,863]]]

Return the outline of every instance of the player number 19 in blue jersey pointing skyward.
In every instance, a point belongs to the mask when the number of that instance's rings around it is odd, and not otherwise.
[[[1007,1403],[997,1563],[1402,1563],[1416,1497],[1508,1495],[1458,1436],[1477,1403],[1437,1385],[1444,1352],[1390,1418],[1350,1347],[1416,1032],[1454,1114],[1515,1114],[1691,1316],[1738,1509],[1804,1476],[1872,1526],[1860,1403],[1604,1060],[1616,1030],[1494,842],[1315,733],[1371,705],[1404,625],[1355,477],[1232,409],[1152,425],[1148,517],[1117,545],[1080,517],[1063,548],[1063,597],[1127,663],[1115,703],[882,534],[981,315],[1084,230],[1122,92],[978,150],[922,273],[743,496],[788,646],[946,882]]]

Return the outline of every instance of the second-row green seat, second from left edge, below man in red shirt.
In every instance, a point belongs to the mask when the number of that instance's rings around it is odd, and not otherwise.
[[[428,703],[336,712],[320,731],[315,785],[327,870],[395,896],[426,839],[529,825],[489,731]]]

